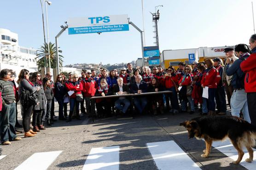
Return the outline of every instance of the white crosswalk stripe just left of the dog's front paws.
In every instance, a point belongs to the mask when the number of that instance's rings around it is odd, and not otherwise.
[[[147,147],[159,170],[200,170],[174,141],[147,143]]]

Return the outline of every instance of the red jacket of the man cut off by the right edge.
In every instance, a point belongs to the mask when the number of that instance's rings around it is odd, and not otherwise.
[[[256,53],[252,53],[240,64],[241,70],[245,73],[245,92],[256,92]]]

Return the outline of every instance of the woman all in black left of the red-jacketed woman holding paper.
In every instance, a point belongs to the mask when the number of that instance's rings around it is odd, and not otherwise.
[[[59,120],[66,120],[63,115],[63,107],[64,107],[64,96],[67,93],[67,90],[64,85],[63,76],[58,74],[57,79],[55,80],[54,84],[55,95],[58,102],[58,119]]]

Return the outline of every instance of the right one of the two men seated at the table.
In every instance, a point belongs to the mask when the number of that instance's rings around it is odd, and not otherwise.
[[[132,93],[145,93],[147,92],[147,84],[144,81],[141,81],[141,75],[135,76],[135,82],[131,85]],[[139,110],[140,113],[143,112],[147,104],[147,99],[145,96],[136,96],[134,97],[134,105]]]

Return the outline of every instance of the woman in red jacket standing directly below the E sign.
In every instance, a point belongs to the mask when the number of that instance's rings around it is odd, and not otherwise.
[[[183,91],[184,94],[182,95],[183,96],[182,101],[181,101],[182,111],[186,111],[186,106],[187,106],[187,102],[188,102],[188,107],[191,108],[189,113],[193,114],[193,113],[195,113],[195,107],[194,107],[194,101],[192,99],[193,74],[191,73],[191,71],[192,71],[192,67],[190,65],[186,65],[185,66],[185,75],[181,77],[181,79],[179,81],[179,85],[180,85],[180,87],[182,86],[182,88],[184,88],[184,89],[186,87],[186,91]],[[186,92],[186,95],[185,95],[185,92]]]

